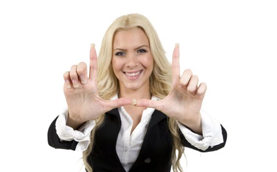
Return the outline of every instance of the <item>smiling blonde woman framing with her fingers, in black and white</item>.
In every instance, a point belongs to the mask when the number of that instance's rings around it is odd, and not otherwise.
[[[63,77],[68,109],[48,143],[83,151],[88,172],[182,172],[184,146],[208,152],[226,143],[225,129],[201,110],[206,84],[189,69],[180,75],[178,44],[169,64],[142,15],[116,19],[98,57],[91,46],[89,69],[80,62]]]

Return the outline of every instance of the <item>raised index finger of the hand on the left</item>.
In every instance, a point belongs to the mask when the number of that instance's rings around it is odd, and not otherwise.
[[[95,51],[95,44],[91,44],[90,50],[90,76],[89,79],[97,81],[97,55]]]

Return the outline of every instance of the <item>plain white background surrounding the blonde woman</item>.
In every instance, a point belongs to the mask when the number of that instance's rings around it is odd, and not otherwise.
[[[277,3],[274,0],[1,0],[1,172],[79,172],[81,153],[47,143],[66,107],[63,73],[89,62],[119,16],[149,18],[181,74],[208,85],[203,109],[228,132],[224,148],[185,149],[185,172],[276,172]],[[81,170],[83,172],[83,170]]]

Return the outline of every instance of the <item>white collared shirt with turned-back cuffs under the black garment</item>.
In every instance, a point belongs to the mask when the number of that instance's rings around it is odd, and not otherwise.
[[[115,99],[118,99],[118,95],[115,95],[111,100]],[[152,96],[151,100],[159,99]],[[154,108],[147,108],[143,111],[141,121],[132,133],[133,120],[131,116],[123,107],[118,108],[118,110],[121,117],[121,129],[117,139],[116,151],[123,168],[128,172],[138,157]],[[178,126],[185,139],[193,146],[202,150],[206,150],[209,146],[223,143],[220,123],[205,111],[201,110],[200,113],[203,136],[191,132],[185,125],[178,122]],[[86,150],[90,143],[90,133],[95,126],[95,121],[87,121],[78,130],[73,130],[73,128],[66,126],[67,117],[68,110],[66,109],[59,115],[56,121],[58,136],[64,141],[77,141],[78,144],[75,150]]]

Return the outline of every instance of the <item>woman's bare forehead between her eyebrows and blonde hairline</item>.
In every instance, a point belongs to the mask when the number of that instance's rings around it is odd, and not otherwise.
[[[149,46],[149,40],[142,29],[120,30],[115,34],[113,47]]]

